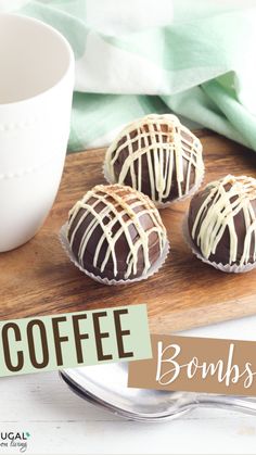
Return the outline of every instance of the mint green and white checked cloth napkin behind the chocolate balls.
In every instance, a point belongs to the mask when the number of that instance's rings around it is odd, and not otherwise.
[[[40,0],[20,12],[75,51],[71,151],[169,111],[256,151],[255,0]]]

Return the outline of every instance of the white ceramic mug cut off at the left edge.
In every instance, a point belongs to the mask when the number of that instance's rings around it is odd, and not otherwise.
[[[66,39],[40,21],[0,14],[0,252],[28,241],[53,204],[73,87]]]

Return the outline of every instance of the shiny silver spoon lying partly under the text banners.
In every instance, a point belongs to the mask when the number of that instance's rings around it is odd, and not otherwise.
[[[132,420],[170,420],[197,406],[256,415],[256,397],[128,388],[126,363],[65,369],[61,377],[82,399]]]

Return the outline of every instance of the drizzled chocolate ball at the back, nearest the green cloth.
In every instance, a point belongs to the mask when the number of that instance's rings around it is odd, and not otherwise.
[[[129,185],[162,206],[196,190],[204,176],[201,141],[171,114],[128,125],[106,151],[111,184]]]

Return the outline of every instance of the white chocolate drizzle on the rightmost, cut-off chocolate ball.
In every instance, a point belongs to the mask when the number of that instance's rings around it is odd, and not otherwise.
[[[192,239],[200,248],[203,256],[209,258],[228,228],[230,238],[229,264],[246,265],[256,261],[256,208],[252,201],[256,200],[256,179],[252,177],[226,176],[213,181],[207,198],[202,203],[192,228]],[[244,218],[245,236],[243,253],[239,254],[241,237],[235,228],[234,217]],[[254,243],[253,243],[254,242]],[[253,248],[254,247],[254,248]],[[253,250],[253,254],[252,254]]]

